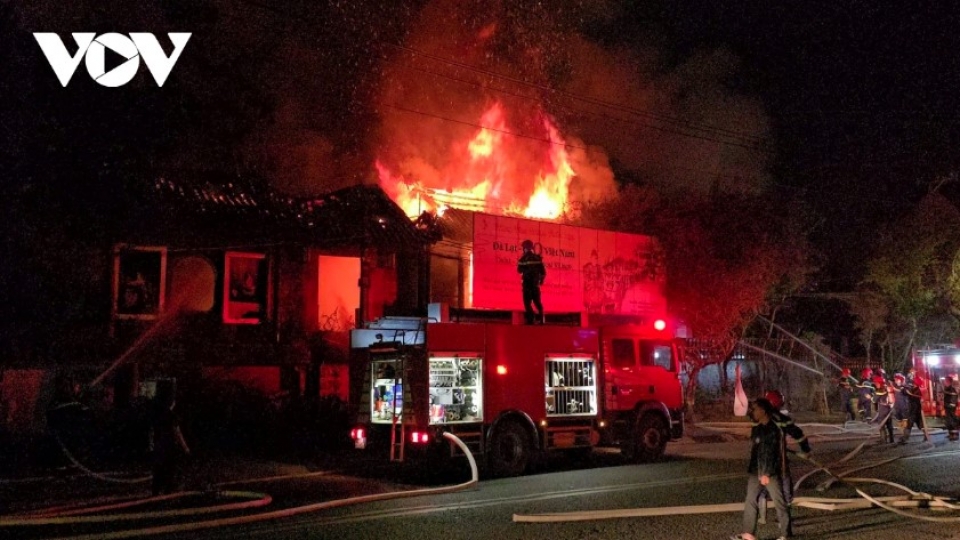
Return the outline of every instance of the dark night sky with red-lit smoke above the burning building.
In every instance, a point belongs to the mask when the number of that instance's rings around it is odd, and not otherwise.
[[[109,222],[118,184],[157,170],[253,171],[304,194],[370,181],[376,159],[439,169],[445,137],[475,129],[490,99],[533,101],[618,176],[808,201],[825,286],[849,288],[876,226],[960,169],[960,8],[875,4],[4,4],[5,208]],[[71,46],[74,31],[193,37],[163,88],[143,66],[103,88],[83,65],[63,88],[38,31]],[[8,249],[22,225],[8,219]]]

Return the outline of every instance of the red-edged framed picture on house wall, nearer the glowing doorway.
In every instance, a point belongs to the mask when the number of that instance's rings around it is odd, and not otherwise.
[[[228,251],[223,267],[223,322],[258,324],[267,313],[267,256]]]

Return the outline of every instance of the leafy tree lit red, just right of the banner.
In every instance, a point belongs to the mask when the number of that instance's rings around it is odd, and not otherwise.
[[[815,269],[802,213],[763,195],[627,187],[616,199],[586,207],[583,218],[662,243],[670,310],[698,338],[685,355],[690,407],[699,372],[725,362],[756,315],[775,310]]]

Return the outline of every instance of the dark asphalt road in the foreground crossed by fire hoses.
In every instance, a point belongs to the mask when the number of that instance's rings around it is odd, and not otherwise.
[[[865,439],[815,440],[814,457],[831,464],[837,474],[878,464],[857,471],[856,476],[876,477],[902,483],[919,492],[960,498],[960,445],[946,443],[942,436],[935,444],[915,440],[906,446],[866,444],[853,458],[833,465],[858,447]],[[194,514],[135,522],[106,522],[65,525],[43,531],[18,530],[30,538],[143,537],[148,532],[169,531],[156,538],[338,538],[402,540],[424,538],[455,539],[702,539],[727,538],[739,532],[741,513],[693,513],[655,517],[621,517],[562,521],[556,523],[518,523],[515,515],[594,512],[637,508],[723,505],[742,502],[746,482],[748,443],[743,440],[715,443],[670,445],[667,458],[654,464],[626,465],[615,453],[600,452],[586,462],[555,459],[536,474],[519,478],[484,479],[466,489],[443,494],[398,497],[417,489],[438,489],[470,479],[468,469],[437,470],[436,475],[409,475],[409,471],[384,470],[372,464],[355,464],[340,471],[327,471],[297,477],[236,483],[231,490],[269,495],[268,505],[210,515]],[[899,458],[889,463],[880,462]],[[795,461],[794,478],[801,478],[814,467]],[[422,471],[421,471],[422,472]],[[348,474],[349,473],[349,474]],[[386,480],[385,480],[386,478]],[[856,497],[854,490],[835,483],[828,488],[829,477],[817,473],[804,481],[798,497]],[[825,488],[819,491],[818,486]],[[226,489],[222,487],[221,489]],[[883,485],[866,487],[871,495],[897,495],[900,492]],[[338,507],[319,507],[323,501],[384,494],[387,500]],[[387,495],[394,494],[394,495]],[[207,505],[229,501],[194,501]],[[179,507],[173,504],[173,508]],[[180,506],[187,506],[182,505]],[[192,506],[192,505],[189,505]],[[262,520],[266,513],[274,517]],[[919,539],[960,540],[960,511],[913,510],[933,518],[952,518],[952,523],[937,523],[904,517],[880,508],[855,510],[815,510],[797,508],[794,512],[798,538],[871,540]],[[277,515],[277,514],[289,515]],[[247,520],[230,524],[229,520]],[[760,538],[777,536],[775,515],[771,524],[762,526]],[[202,528],[197,528],[201,524]],[[154,531],[144,530],[155,528]],[[124,531],[133,531],[125,533]],[[123,536],[129,534],[130,536]]]

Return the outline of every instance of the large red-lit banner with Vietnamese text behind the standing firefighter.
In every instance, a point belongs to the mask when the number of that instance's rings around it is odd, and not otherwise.
[[[545,311],[666,312],[663,253],[653,237],[480,213],[473,217],[473,307],[523,309],[517,260],[524,240],[547,268]]]

